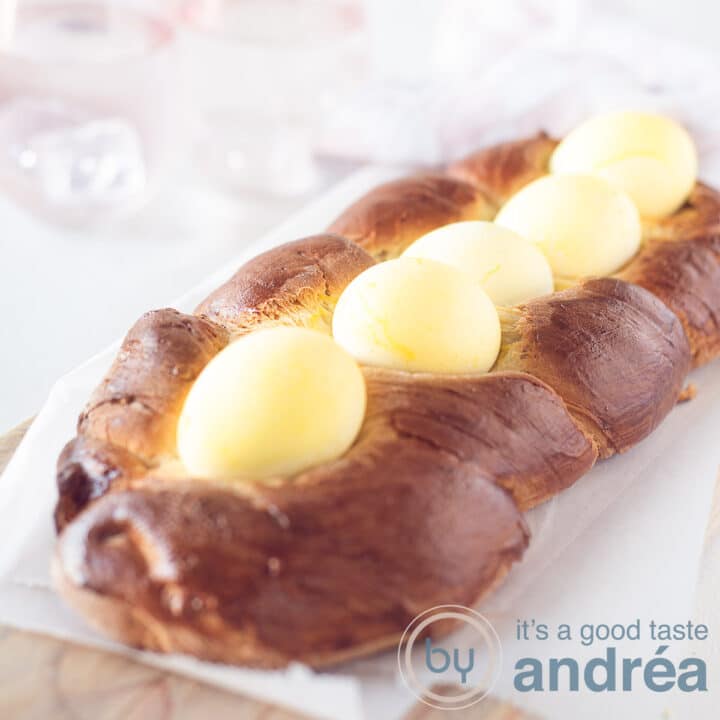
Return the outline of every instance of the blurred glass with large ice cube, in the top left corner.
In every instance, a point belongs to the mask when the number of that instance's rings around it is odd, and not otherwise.
[[[0,49],[0,189],[69,225],[129,212],[172,164],[174,33],[128,2],[20,2]]]

